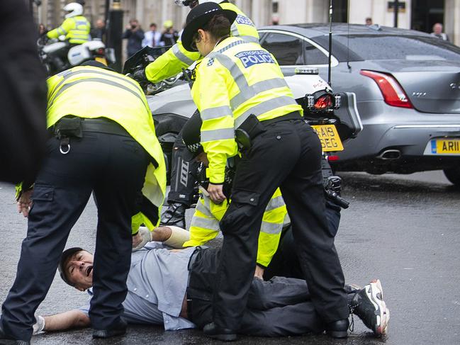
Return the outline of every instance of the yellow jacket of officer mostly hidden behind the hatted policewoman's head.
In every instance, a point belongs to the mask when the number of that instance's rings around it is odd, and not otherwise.
[[[248,42],[259,43],[259,33],[257,32],[257,28],[254,26],[251,19],[245,15],[245,13],[230,2],[224,2],[219,5],[223,9],[231,10],[237,13],[237,18],[230,28],[232,36],[239,36]],[[163,79],[173,77],[181,72],[182,68],[187,68],[193,64],[193,62],[200,59],[201,55],[199,52],[187,51],[179,39],[177,43],[167,52],[147,66],[145,69],[145,76],[148,80],[152,81],[152,83],[157,83]]]

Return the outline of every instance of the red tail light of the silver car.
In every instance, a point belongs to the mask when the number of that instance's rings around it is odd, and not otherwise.
[[[391,75],[374,71],[366,71],[361,69],[360,74],[373,79],[380,89],[385,103],[389,106],[397,106],[400,108],[413,108],[408,96],[398,81]]]

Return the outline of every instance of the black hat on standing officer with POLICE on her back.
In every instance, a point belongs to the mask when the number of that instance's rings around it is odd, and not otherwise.
[[[186,27],[181,35],[182,45],[184,45],[186,50],[189,50],[189,52],[196,52],[196,49],[191,47],[193,35],[198,29],[206,26],[213,16],[219,14],[225,16],[228,21],[230,21],[230,24],[237,18],[237,13],[235,11],[222,9],[222,7],[214,2],[205,2],[191,9],[186,19]]]

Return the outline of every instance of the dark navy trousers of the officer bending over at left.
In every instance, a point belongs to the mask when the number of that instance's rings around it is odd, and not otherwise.
[[[89,317],[94,329],[110,329],[120,322],[131,259],[131,217],[137,213],[148,156],[130,136],[83,135],[70,138],[68,154],[60,153],[55,137],[47,142],[16,281],[2,307],[4,330],[15,339],[30,339],[33,314],[50,288],[69,232],[91,191],[98,224]]]

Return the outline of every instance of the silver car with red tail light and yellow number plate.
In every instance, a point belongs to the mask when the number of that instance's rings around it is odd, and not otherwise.
[[[335,24],[332,32],[332,88],[356,93],[364,126],[337,153],[335,169],[443,169],[460,185],[460,47],[398,28]],[[318,67],[327,80],[327,24],[267,26],[259,33],[284,74]]]

